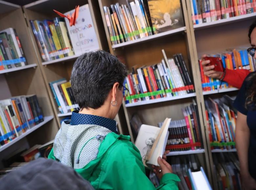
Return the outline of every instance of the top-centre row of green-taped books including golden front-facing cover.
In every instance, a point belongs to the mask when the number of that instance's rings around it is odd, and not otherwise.
[[[126,0],[104,6],[112,45],[184,27],[180,0]]]

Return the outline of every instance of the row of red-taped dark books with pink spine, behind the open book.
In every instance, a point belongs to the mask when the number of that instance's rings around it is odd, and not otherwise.
[[[193,104],[182,108],[182,112],[185,119],[171,121],[169,125],[166,150],[195,150],[202,146],[198,108],[195,101],[193,100]],[[161,127],[162,124],[163,122],[158,126]]]

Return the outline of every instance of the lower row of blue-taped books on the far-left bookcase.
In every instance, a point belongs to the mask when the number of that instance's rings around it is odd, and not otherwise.
[[[36,95],[0,100],[0,144],[9,143],[43,121]]]

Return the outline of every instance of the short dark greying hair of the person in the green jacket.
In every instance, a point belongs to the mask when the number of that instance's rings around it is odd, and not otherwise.
[[[71,85],[79,107],[101,107],[114,83],[122,88],[127,70],[116,56],[106,51],[88,52],[77,58],[71,72]]]

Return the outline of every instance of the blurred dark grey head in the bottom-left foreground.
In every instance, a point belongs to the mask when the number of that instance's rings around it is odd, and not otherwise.
[[[39,158],[0,179],[5,190],[93,190],[92,185],[72,168]]]

